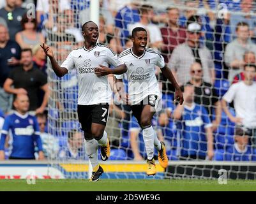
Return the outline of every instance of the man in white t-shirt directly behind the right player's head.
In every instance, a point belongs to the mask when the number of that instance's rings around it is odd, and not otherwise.
[[[128,25],[128,30],[130,35],[132,35],[132,30],[135,27],[143,27],[144,29],[146,29],[147,33],[149,34],[148,46],[155,49],[161,48],[163,43],[161,31],[157,25],[154,25],[151,23],[151,20],[154,15],[153,6],[142,5],[139,8],[139,11],[140,11],[140,22]]]

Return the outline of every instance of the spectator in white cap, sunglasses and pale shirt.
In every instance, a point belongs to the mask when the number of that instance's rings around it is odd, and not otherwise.
[[[214,84],[215,69],[213,57],[208,48],[200,43],[202,25],[196,16],[188,19],[186,26],[186,41],[174,48],[169,60],[169,68],[180,85],[190,80],[190,67],[199,62],[204,71],[203,80]]]

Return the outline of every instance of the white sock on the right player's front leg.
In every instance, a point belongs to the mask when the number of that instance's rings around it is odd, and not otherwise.
[[[147,159],[151,160],[154,156],[154,129],[152,126],[142,131],[143,140],[146,147]]]

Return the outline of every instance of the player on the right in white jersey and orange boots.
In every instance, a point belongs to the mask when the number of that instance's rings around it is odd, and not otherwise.
[[[168,166],[168,157],[165,144],[160,142],[152,127],[151,120],[154,113],[161,110],[161,92],[154,75],[154,68],[161,68],[163,75],[176,88],[175,99],[183,103],[183,93],[179,88],[172,72],[165,66],[162,55],[151,48],[146,48],[147,31],[142,27],[135,27],[132,31],[133,46],[124,50],[119,55],[119,59],[127,66],[128,79],[128,99],[123,94],[123,75],[116,75],[117,91],[119,96],[131,105],[133,115],[138,120],[143,129],[142,135],[147,153],[147,175],[156,174],[156,165],[154,163],[154,147],[158,150],[158,161],[163,168]],[[101,72],[101,70],[97,70]],[[121,83],[120,83],[121,82]]]

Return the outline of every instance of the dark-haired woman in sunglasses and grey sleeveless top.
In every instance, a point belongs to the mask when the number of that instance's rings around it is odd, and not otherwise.
[[[36,18],[28,18],[26,14],[22,16],[21,25],[23,31],[16,34],[15,40],[22,49],[31,48],[45,42],[43,34],[36,32]]]

